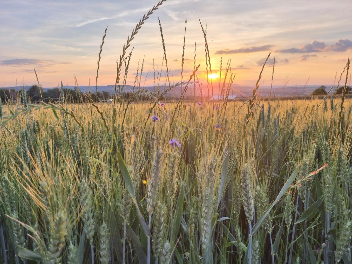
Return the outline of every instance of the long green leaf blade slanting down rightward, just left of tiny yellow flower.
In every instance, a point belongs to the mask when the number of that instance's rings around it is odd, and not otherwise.
[[[124,181],[125,181],[125,186],[128,190],[128,192],[130,193],[131,197],[132,197],[132,201],[134,203],[134,205],[136,206],[136,210],[139,216],[139,220],[140,220],[140,224],[144,230],[144,233],[148,236],[151,237],[151,233],[149,230],[149,227],[147,226],[142,213],[139,210],[139,206],[138,206],[138,202],[136,199],[136,195],[134,194],[134,187],[133,187],[133,183],[132,183],[132,179],[130,176],[130,172],[128,172],[127,166],[125,164],[124,159],[121,156],[121,153],[117,150],[117,160],[119,162],[119,168],[121,171],[122,176],[124,177]]]

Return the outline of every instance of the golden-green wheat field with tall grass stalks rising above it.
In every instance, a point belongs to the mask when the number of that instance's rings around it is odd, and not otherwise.
[[[260,98],[260,72],[230,101],[230,64],[201,85],[196,63],[163,90],[157,73],[155,92],[137,72],[128,91],[127,49],[156,7],[122,49],[111,102],[73,103],[62,83],[55,104],[25,87],[0,100],[0,262],[351,263],[349,60],[339,96]]]

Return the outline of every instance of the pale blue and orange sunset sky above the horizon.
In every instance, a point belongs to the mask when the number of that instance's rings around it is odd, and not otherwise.
[[[157,1],[12,0],[1,1],[0,87],[59,82],[95,86],[98,52],[104,30],[98,85],[114,84],[116,59],[127,36]],[[165,40],[170,81],[181,76],[187,20],[184,76],[196,64],[206,82],[205,41],[199,19],[207,25],[214,82],[231,59],[234,83],[253,86],[271,52],[261,84],[270,85],[275,57],[274,85],[333,84],[352,54],[351,0],[167,0],[131,42],[134,47],[127,84],[134,83],[143,64],[142,84],[154,84],[155,70],[165,70],[158,18]],[[139,63],[139,66],[138,66]],[[148,73],[149,71],[149,73]],[[148,74],[147,74],[148,73]],[[186,78],[185,77],[185,78]],[[164,75],[161,83],[164,82]]]

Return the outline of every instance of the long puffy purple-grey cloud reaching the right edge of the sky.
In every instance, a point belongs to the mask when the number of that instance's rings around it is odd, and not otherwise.
[[[312,44],[304,45],[300,48],[291,48],[278,50],[277,52],[281,53],[312,53],[312,52],[321,52],[321,51],[337,51],[344,52],[352,48],[352,42],[348,39],[340,39],[333,45],[326,45],[324,42],[319,42],[314,40]]]

